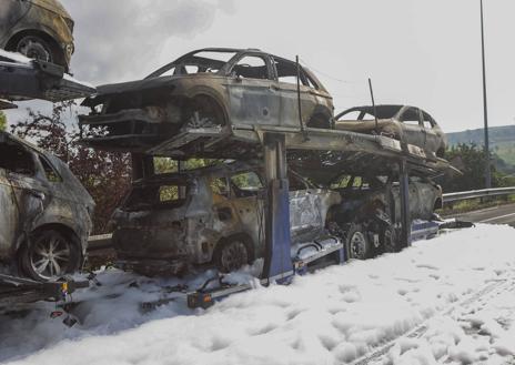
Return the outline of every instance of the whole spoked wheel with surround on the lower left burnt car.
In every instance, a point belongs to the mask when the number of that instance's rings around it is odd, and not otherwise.
[[[58,231],[40,231],[33,234],[30,247],[22,250],[21,264],[24,273],[33,280],[57,280],[79,270],[79,245]]]

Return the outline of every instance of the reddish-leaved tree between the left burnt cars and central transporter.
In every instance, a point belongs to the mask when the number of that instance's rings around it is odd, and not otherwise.
[[[80,144],[77,124],[67,128],[63,121],[72,104],[54,104],[50,116],[29,110],[27,120],[11,125],[11,131],[55,154],[70,166],[97,203],[94,232],[104,233],[112,212],[130,187],[130,155],[97,151]]]

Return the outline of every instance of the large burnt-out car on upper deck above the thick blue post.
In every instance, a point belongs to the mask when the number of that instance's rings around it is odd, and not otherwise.
[[[333,101],[306,68],[256,49],[202,49],[144,80],[108,84],[84,100],[80,125],[101,129],[84,141],[104,150],[144,152],[189,128],[331,128]]]

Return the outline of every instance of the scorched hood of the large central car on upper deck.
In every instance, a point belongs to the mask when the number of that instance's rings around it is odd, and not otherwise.
[[[176,80],[178,77],[161,77],[154,79],[143,79],[137,81],[121,82],[121,83],[110,83],[105,85],[100,85],[97,88],[97,94],[93,97],[84,99],[82,102],[83,107],[94,107],[107,99],[113,95],[127,94],[127,93],[143,93],[149,90],[155,89],[169,89],[173,90],[173,80]]]

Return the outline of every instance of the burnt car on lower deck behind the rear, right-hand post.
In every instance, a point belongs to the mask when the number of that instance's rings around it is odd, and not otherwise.
[[[410,176],[410,217],[431,221],[442,209],[442,187],[425,176]],[[341,232],[351,258],[368,258],[382,252],[396,252],[396,222],[401,220],[401,187],[391,176],[339,176],[331,187],[342,196],[329,221]]]

